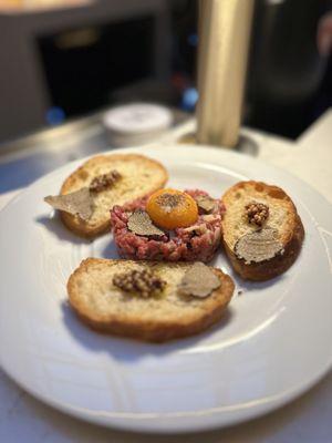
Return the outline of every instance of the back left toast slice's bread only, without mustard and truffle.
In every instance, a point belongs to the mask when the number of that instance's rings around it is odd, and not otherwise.
[[[61,194],[70,194],[90,186],[92,181],[111,171],[121,178],[110,188],[93,196],[93,214],[89,220],[61,212],[65,226],[82,237],[96,237],[110,228],[110,209],[142,198],[159,188],[168,179],[165,167],[155,159],[138,154],[110,154],[90,158],[63,183]]]

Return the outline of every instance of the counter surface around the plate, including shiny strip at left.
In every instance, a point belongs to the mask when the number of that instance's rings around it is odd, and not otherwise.
[[[76,126],[28,137],[18,143],[22,150],[0,156],[0,208],[21,188],[44,173],[69,159],[103,151],[108,146],[97,119]],[[162,143],[174,143],[194,130],[195,122],[188,121],[167,133]],[[242,130],[241,133],[242,155],[255,155],[290,171],[332,203],[332,111],[326,112],[295,142],[250,130]],[[330,238],[332,241],[332,235]],[[249,423],[188,434],[185,439],[188,443],[203,440],[206,443],[330,443],[331,416],[330,372],[308,393],[281,410]],[[0,442],[178,443],[183,440],[184,436],[180,435],[156,436],[113,431],[72,419],[25,393],[0,370]]]

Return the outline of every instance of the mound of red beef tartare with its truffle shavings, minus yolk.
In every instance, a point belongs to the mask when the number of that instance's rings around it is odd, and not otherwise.
[[[167,189],[164,195],[166,192]],[[183,227],[184,225],[178,224],[178,227],[169,229],[165,228],[165,225],[163,227],[162,223],[156,224],[155,219],[149,217],[151,197],[113,207],[111,223],[121,257],[135,260],[204,262],[214,257],[221,237],[221,217],[225,213],[222,202],[212,199],[199,189],[174,193],[184,194],[186,198],[195,200],[195,223],[186,217],[191,223],[189,226]],[[160,200],[160,196],[158,198]],[[164,207],[166,215],[174,210],[173,200]]]

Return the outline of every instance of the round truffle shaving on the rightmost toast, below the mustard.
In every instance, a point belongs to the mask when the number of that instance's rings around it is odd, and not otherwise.
[[[277,229],[262,228],[245,234],[235,245],[235,254],[246,264],[270,260],[277,254],[283,254],[283,246],[278,239]]]

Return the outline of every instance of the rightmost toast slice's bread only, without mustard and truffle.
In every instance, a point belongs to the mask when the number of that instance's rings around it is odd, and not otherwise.
[[[240,182],[222,196],[226,214],[222,219],[222,243],[235,270],[248,280],[268,280],[284,272],[295,261],[304,239],[304,229],[291,198],[280,187],[261,182]],[[250,224],[246,206],[252,202],[269,208],[262,226]],[[236,245],[242,236],[261,228],[274,229],[282,245],[280,254],[255,262],[246,261],[236,254]]]

